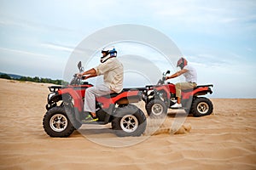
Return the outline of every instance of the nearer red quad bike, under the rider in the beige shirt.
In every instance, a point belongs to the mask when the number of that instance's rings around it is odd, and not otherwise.
[[[79,71],[84,71],[79,62]],[[49,87],[47,112],[44,115],[44,131],[50,137],[68,137],[82,124],[103,125],[112,123],[117,136],[140,136],[144,133],[147,121],[139,108],[131,103],[143,99],[137,89],[124,88],[120,94],[109,94],[96,99],[97,122],[81,122],[84,117],[84,92],[93,85],[83,82],[75,74],[70,85]]]

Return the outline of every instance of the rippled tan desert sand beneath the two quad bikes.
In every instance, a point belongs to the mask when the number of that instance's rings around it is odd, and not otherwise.
[[[0,79],[0,169],[256,169],[256,99],[212,99],[203,117],[170,111],[152,135],[119,139],[107,125],[60,139],[42,126],[48,86]],[[175,119],[182,134],[170,133]],[[140,142],[109,147],[98,138]]]

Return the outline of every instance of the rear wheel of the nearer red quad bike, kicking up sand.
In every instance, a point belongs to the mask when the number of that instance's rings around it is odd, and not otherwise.
[[[135,105],[117,108],[112,121],[114,133],[119,137],[141,136],[147,126],[146,116]]]

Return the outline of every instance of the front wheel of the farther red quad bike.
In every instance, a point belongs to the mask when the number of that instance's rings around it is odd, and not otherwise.
[[[146,111],[151,118],[163,118],[167,115],[166,103],[161,99],[152,99],[146,104]]]

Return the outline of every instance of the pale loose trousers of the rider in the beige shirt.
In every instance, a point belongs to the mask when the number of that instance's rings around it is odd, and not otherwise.
[[[96,97],[111,94],[112,90],[104,84],[87,88],[84,96],[84,111],[96,112]]]

